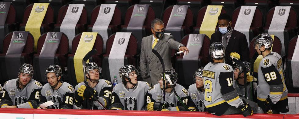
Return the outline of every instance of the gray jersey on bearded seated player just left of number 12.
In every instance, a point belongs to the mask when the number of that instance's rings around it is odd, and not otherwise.
[[[195,83],[189,86],[188,92],[189,92],[189,96],[191,97],[193,103],[196,106],[196,109],[199,110],[200,112],[204,112],[205,111],[204,92],[198,90],[196,88]]]

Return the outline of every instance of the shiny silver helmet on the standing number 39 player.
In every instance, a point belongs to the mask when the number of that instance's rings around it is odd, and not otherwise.
[[[271,48],[273,44],[273,39],[271,37],[271,35],[269,35],[268,33],[262,33],[261,35],[258,35],[257,37],[255,37],[255,42],[254,42],[254,48],[256,45],[258,45],[258,49],[261,48],[262,45],[265,46],[265,48]]]

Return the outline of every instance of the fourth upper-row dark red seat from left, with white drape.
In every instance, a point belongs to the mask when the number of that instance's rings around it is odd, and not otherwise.
[[[95,21],[99,15],[99,10],[100,10],[101,5],[98,5],[95,7],[95,9],[92,10],[91,14],[91,23],[88,25],[88,32],[92,32],[92,27],[95,24]],[[115,7],[113,17],[111,19],[110,25],[108,26],[108,37],[119,31],[121,25],[121,10],[119,9],[118,6]]]

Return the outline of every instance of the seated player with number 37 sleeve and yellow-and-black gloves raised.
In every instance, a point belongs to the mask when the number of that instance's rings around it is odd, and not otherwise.
[[[88,85],[81,82],[75,86],[75,104],[73,108],[102,110],[104,107],[109,107],[112,91],[111,82],[99,79],[99,66],[95,62],[86,63],[85,75],[86,79],[88,79]]]

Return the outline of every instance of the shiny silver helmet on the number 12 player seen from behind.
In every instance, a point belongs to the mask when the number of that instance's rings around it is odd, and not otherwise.
[[[209,54],[212,59],[224,58],[225,48],[223,44],[220,42],[212,43],[210,46]]]

